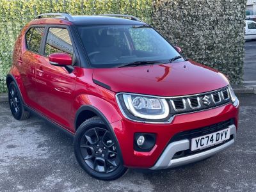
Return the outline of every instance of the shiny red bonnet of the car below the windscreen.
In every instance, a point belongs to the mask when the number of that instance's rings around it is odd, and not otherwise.
[[[191,95],[228,85],[220,72],[191,60],[138,67],[95,68],[93,79],[106,84],[113,92],[158,96]]]

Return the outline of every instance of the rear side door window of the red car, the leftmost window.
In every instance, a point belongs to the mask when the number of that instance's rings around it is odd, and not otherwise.
[[[26,44],[30,51],[39,53],[44,28],[31,28],[26,33]]]

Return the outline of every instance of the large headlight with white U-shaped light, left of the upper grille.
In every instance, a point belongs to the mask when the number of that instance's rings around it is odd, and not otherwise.
[[[124,99],[124,105],[120,107],[128,109],[132,115],[138,118],[160,120],[169,115],[170,110],[165,99],[133,94],[122,94],[120,96]]]

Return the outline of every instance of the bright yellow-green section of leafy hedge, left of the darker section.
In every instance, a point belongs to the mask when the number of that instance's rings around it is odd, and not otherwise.
[[[12,65],[13,45],[20,29],[35,15],[49,12],[72,15],[122,13],[151,24],[152,0],[0,0],[0,93],[6,92],[6,74]]]

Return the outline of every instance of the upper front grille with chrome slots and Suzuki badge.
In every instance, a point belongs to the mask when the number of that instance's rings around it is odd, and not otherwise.
[[[170,99],[171,113],[189,113],[204,109],[214,108],[230,102],[228,90],[222,88],[208,93],[200,93],[193,96],[180,96]]]

